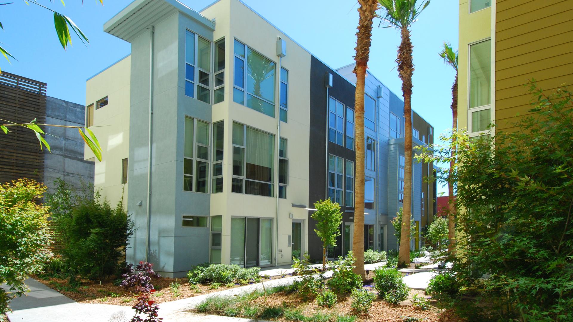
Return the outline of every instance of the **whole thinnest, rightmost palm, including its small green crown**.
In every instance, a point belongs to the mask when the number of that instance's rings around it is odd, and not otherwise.
[[[452,45],[444,42],[444,49],[439,53],[439,57],[444,59],[444,62],[454,70],[456,70],[456,78],[452,85],[452,131],[456,133],[458,127],[458,52],[454,52]],[[452,135],[452,155],[450,155],[450,171],[448,174],[448,250],[452,256],[456,255],[456,203],[454,201],[454,182],[452,175],[454,172],[454,164],[456,163],[456,135]]]

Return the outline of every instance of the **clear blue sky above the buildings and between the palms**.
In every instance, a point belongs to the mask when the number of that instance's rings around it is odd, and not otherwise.
[[[200,10],[211,0],[180,0]],[[48,95],[74,103],[85,103],[85,80],[129,54],[129,44],[103,32],[103,24],[131,0],[38,0],[72,18],[89,38],[84,46],[73,38],[73,46],[62,49],[53,26],[53,15],[40,6],[16,0],[2,6],[2,46],[18,61],[0,60],[0,68],[48,83]],[[338,68],[350,64],[356,45],[357,4],[348,0],[244,0],[282,32]],[[438,52],[444,41],[458,48],[458,0],[433,0],[412,26],[414,77],[412,107],[434,126],[435,135],[452,127],[449,108],[453,70]],[[370,72],[402,97],[401,81],[394,62],[400,41],[397,30],[378,28],[375,21],[370,54]],[[443,188],[438,191],[446,191]]]

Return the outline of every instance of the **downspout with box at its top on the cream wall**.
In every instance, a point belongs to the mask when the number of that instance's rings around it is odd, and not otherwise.
[[[276,119],[277,119],[277,138],[276,138],[276,147],[274,148],[274,152],[276,155],[276,162],[274,163],[274,194],[275,194],[275,199],[276,199],[276,220],[275,220],[275,235],[274,235],[274,240],[276,241],[274,243],[274,266],[278,266],[278,167],[279,167],[279,157],[278,157],[278,152],[279,152],[279,144],[280,144],[280,140],[281,140],[281,62],[282,62],[282,57],[286,56],[286,43],[284,40],[281,39],[281,37],[278,37],[277,39],[277,56],[278,56],[278,66],[277,66],[277,73],[276,76],[277,77],[277,82],[276,82],[276,92],[277,92],[277,104],[276,104]]]

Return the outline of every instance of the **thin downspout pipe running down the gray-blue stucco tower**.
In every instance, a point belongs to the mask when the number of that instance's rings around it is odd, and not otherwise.
[[[149,261],[149,239],[150,239],[150,225],[151,225],[151,154],[152,154],[152,135],[153,135],[153,48],[154,48],[154,35],[155,26],[150,26],[150,49],[149,49],[149,136],[148,136],[148,151],[147,151],[147,232],[145,241],[145,261]]]

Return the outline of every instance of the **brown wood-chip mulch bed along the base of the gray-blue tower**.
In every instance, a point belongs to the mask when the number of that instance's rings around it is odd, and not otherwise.
[[[286,277],[288,276],[289,275]],[[137,294],[125,291],[125,289],[121,286],[113,285],[112,281],[102,281],[100,285],[99,282],[81,280],[81,286],[74,290],[69,286],[68,280],[62,280],[61,278],[54,277],[30,277],[48,286],[49,288],[57,290],[58,292],[79,303],[113,304],[125,305],[127,307],[132,307],[135,305],[135,303],[137,303]],[[276,278],[281,278],[281,276],[272,277],[273,280]],[[265,281],[268,281],[268,279],[265,279]],[[172,290],[169,288],[169,285],[172,282],[178,282],[180,284],[179,294],[174,294],[174,292],[172,292]],[[150,298],[154,300],[155,303],[181,300],[186,299],[187,297],[230,289],[226,287],[225,284],[221,284],[221,286],[217,289],[209,289],[209,285],[198,284],[198,290],[193,290],[189,287],[187,278],[152,278],[151,284],[153,284],[156,292],[154,292]],[[233,287],[238,286],[242,285],[233,285]]]

